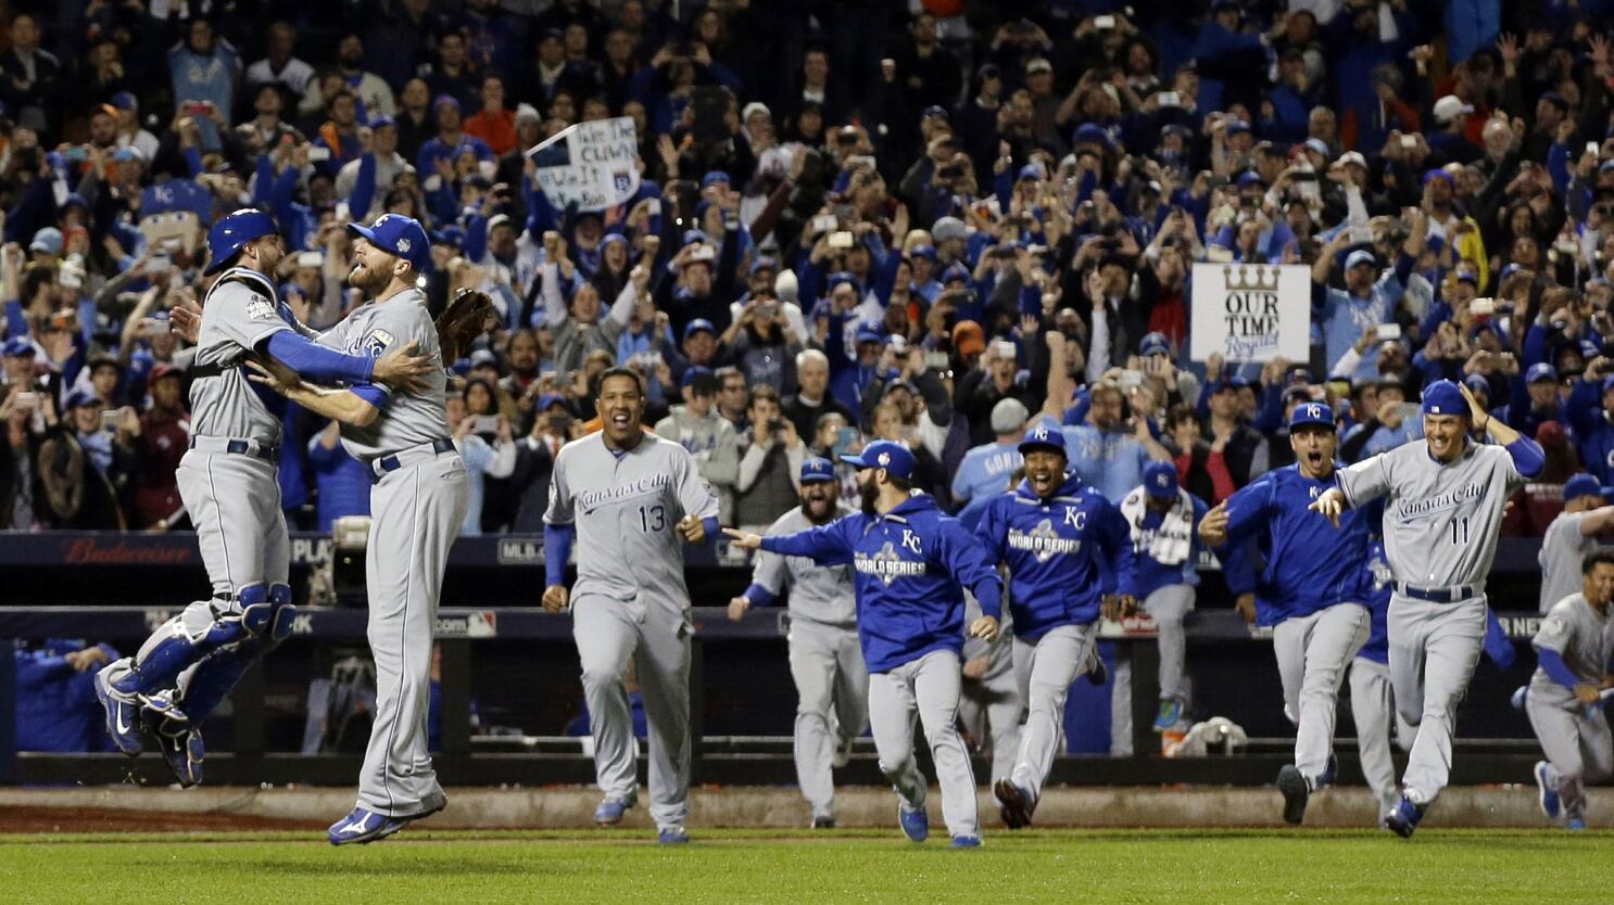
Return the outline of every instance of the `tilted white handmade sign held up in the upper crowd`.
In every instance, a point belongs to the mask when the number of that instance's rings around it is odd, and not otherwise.
[[[639,137],[629,116],[568,126],[526,155],[557,208],[576,203],[578,210],[600,211],[639,190]]]

